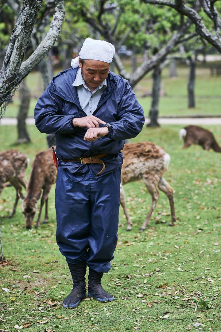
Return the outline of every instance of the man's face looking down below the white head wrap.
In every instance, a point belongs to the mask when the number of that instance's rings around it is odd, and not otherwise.
[[[95,90],[107,77],[110,64],[98,60],[84,60],[83,66],[79,58],[79,67],[85,84]]]

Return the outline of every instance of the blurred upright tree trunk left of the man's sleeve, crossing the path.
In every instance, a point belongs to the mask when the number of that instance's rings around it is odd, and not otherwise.
[[[18,131],[18,140],[17,144],[20,143],[30,143],[31,139],[29,137],[27,128],[26,128],[26,119],[28,116],[29,104],[30,104],[30,90],[25,82],[25,80],[20,84],[19,88],[19,97],[21,100],[19,112],[18,112],[18,124],[17,124],[17,131]]]

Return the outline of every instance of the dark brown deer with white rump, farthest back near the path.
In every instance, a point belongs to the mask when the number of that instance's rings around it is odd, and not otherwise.
[[[192,144],[201,145],[204,150],[213,149],[215,152],[221,152],[221,147],[218,145],[213,134],[197,125],[188,125],[180,129],[179,138],[184,139],[183,148],[187,148]]]

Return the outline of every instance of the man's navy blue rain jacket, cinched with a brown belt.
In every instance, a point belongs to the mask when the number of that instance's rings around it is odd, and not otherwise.
[[[110,123],[112,130],[108,135],[94,142],[84,141],[88,128],[72,125],[73,118],[87,116],[80,106],[76,87],[72,86],[77,69],[64,70],[53,78],[37,102],[35,123],[41,132],[55,134],[59,167],[85,173],[88,171],[87,164],[64,162],[62,159],[76,159],[101,153],[110,154],[101,158],[106,166],[105,171],[100,175],[102,176],[122,164],[123,157],[120,151],[123,149],[124,140],[139,134],[145,121],[144,112],[128,81],[109,72],[107,87],[93,115]],[[96,174],[101,170],[101,165],[93,164],[92,169]]]

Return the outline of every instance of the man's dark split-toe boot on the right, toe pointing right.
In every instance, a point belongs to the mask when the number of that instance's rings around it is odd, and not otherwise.
[[[88,274],[88,296],[94,297],[100,302],[112,301],[113,295],[106,292],[101,286],[103,273],[89,269]]]

